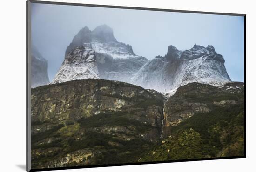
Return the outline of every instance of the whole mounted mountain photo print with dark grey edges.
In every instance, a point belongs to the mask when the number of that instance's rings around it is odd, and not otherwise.
[[[27,1],[27,171],[244,157],[244,14]]]

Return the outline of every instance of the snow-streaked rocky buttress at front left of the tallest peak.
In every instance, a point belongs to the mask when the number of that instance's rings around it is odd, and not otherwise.
[[[95,51],[89,43],[78,46],[67,54],[52,83],[81,79],[100,79]]]

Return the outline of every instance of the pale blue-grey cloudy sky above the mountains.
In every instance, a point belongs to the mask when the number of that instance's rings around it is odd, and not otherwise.
[[[102,7],[32,3],[32,44],[48,60],[50,81],[67,46],[84,27],[106,24],[119,42],[149,60],[164,56],[169,45],[186,50],[197,45],[215,47],[223,55],[233,81],[244,81],[244,20],[241,16],[175,13]]]

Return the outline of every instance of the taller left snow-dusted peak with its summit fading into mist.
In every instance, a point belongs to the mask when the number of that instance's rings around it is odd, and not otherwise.
[[[75,79],[131,83],[135,73],[148,61],[137,56],[129,44],[118,42],[109,26],[101,25],[93,31],[85,26],[67,47],[64,62],[52,83]]]

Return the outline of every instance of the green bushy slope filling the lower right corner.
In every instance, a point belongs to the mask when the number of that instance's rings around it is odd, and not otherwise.
[[[140,161],[244,155],[243,106],[218,107],[171,127],[171,135]]]

